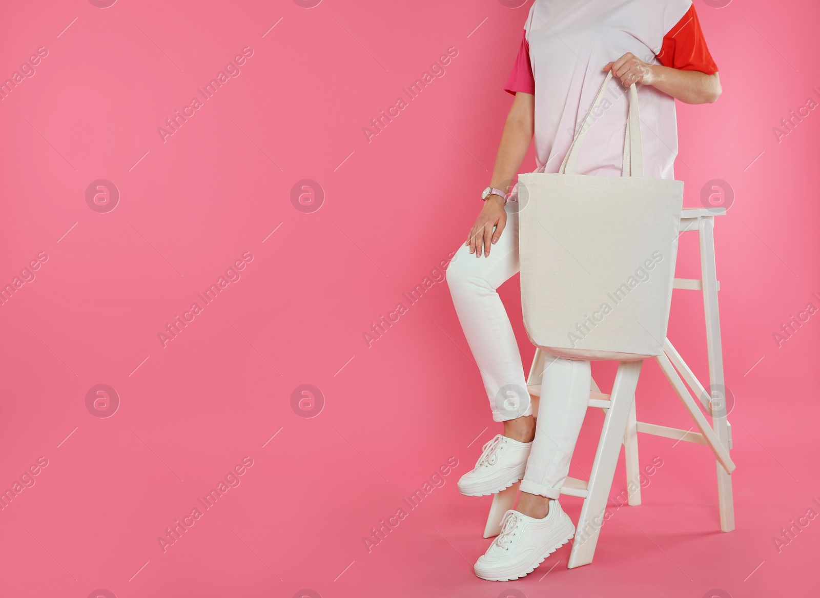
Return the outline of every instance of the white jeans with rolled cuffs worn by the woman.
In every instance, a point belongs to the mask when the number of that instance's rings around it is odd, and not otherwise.
[[[532,414],[521,354],[496,289],[518,272],[518,204],[490,256],[462,245],[447,267],[458,319],[484,380],[496,422]],[[569,472],[590,398],[590,362],[549,357],[544,367],[535,440],[521,490],[557,499]]]

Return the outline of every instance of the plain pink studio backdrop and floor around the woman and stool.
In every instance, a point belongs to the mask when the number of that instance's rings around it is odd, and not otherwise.
[[[0,306],[0,488],[48,466],[0,511],[0,595],[816,595],[820,520],[773,542],[820,513],[820,315],[779,348],[772,336],[820,307],[820,112],[779,143],[772,132],[820,101],[810,0],[696,0],[723,95],[678,103],[685,204],[708,180],[735,193],[716,235],[736,531],[719,531],[708,449],[641,436],[640,463],[663,467],[642,506],[613,500],[593,564],[567,569],[567,545],[517,582],[472,573],[490,498],[455,482],[501,427],[431,271],[480,208],[529,6],[3,3],[0,80],[48,56],[0,102],[0,284],[48,261]],[[242,48],[241,74],[163,142],[157,127]],[[362,128],[447,48],[446,74],[368,143]],[[119,191],[110,212],[86,203],[99,179]],[[321,185],[315,212],[291,202],[303,179]],[[245,252],[239,280],[163,348],[157,334]],[[679,276],[696,267],[684,235]],[[438,280],[368,348],[363,333],[426,276]],[[528,364],[516,285],[502,294]],[[705,376],[699,294],[676,291],[669,336]],[[595,364],[606,388],[614,366]],[[100,384],[120,398],[97,410],[107,418],[86,407]],[[305,384],[324,397],[313,418],[291,407]],[[654,363],[637,406],[691,425]],[[600,422],[590,410],[572,475]],[[163,552],[157,537],[245,457],[239,486]],[[368,552],[362,538],[451,457],[444,486]],[[625,488],[621,463],[613,498]],[[576,519],[581,501],[562,502]]]

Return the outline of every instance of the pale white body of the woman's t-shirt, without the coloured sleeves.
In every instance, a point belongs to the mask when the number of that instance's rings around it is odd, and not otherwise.
[[[558,172],[604,83],[607,62],[632,52],[655,57],[691,0],[535,0],[524,30],[535,78],[535,172]],[[579,175],[621,176],[629,95],[610,80],[578,157]],[[637,84],[644,176],[674,179],[675,100]],[[517,191],[517,189],[514,190]]]

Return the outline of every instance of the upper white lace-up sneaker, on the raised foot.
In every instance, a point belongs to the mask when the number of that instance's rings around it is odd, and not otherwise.
[[[512,486],[524,477],[531,446],[497,434],[484,445],[476,467],[458,480],[458,490],[467,496],[485,496]]]

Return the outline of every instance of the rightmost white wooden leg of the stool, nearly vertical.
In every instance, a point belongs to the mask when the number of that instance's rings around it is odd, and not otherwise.
[[[727,423],[726,401],[719,395],[718,388],[725,389],[723,380],[723,349],[720,338],[720,313],[717,310],[717,270],[715,267],[713,218],[703,218],[699,223],[700,279],[704,290],[704,319],[706,320],[706,350],[709,363],[709,385],[712,396],[720,400],[720,408],[715,409],[712,427],[718,440],[729,450],[729,427]],[[735,529],[735,506],[732,498],[731,476],[720,463],[717,467],[717,504],[720,509],[720,528],[723,532]]]

